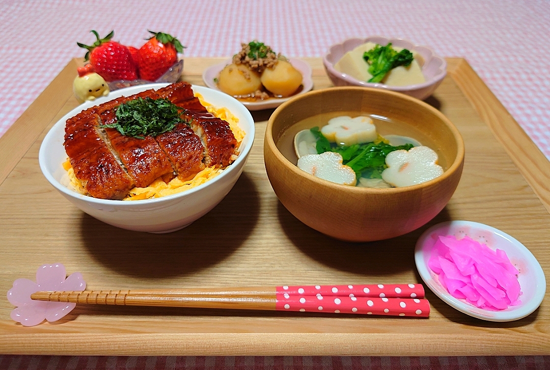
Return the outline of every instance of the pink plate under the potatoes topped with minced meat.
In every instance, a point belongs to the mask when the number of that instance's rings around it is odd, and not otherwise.
[[[311,78],[311,67],[304,61],[295,58],[288,58],[290,64],[294,68],[298,69],[302,74],[302,85],[304,88],[302,91],[298,92],[296,95],[305,94],[307,91],[313,89],[313,79]],[[205,81],[206,86],[211,89],[218,89],[218,85],[215,83],[214,79],[219,77],[219,73],[222,72],[222,69],[225,68],[228,64],[232,63],[232,59],[228,59],[226,62],[216,64],[215,66],[206,68],[205,72],[202,74],[202,80]],[[293,96],[296,96],[293,95]],[[291,97],[272,97],[266,100],[260,101],[240,101],[243,105],[248,108],[249,111],[259,111],[262,109],[277,108],[279,105],[283,104],[285,101],[289,100]]]

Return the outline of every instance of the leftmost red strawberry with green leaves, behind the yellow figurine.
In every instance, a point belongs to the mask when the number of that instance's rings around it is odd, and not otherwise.
[[[96,42],[91,46],[77,42],[78,46],[88,50],[85,61],[90,59],[90,64],[96,73],[106,81],[135,80],[138,78],[138,68],[130,55],[130,51],[124,45],[111,41],[114,31],[100,39],[96,31],[90,31],[96,35]]]

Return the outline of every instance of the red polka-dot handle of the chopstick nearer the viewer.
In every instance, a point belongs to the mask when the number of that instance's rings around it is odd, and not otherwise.
[[[277,294],[276,310],[428,317],[430,303],[419,298],[300,296],[283,293]]]

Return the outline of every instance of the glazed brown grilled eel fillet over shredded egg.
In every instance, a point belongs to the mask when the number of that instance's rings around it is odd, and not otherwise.
[[[120,104],[138,97],[168,99],[184,108],[182,117],[191,127],[178,124],[145,139],[100,127],[116,121]],[[158,177],[188,180],[207,166],[230,165],[237,154],[229,124],[208,113],[186,82],[119,97],[67,119],[64,144],[76,178],[87,193],[102,199],[123,199],[131,188],[149,186]]]

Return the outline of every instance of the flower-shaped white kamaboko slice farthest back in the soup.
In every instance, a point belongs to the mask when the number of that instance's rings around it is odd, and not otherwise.
[[[346,146],[370,143],[378,138],[372,119],[365,116],[334,117],[329,119],[327,126],[321,128],[321,133],[329,142]]]

